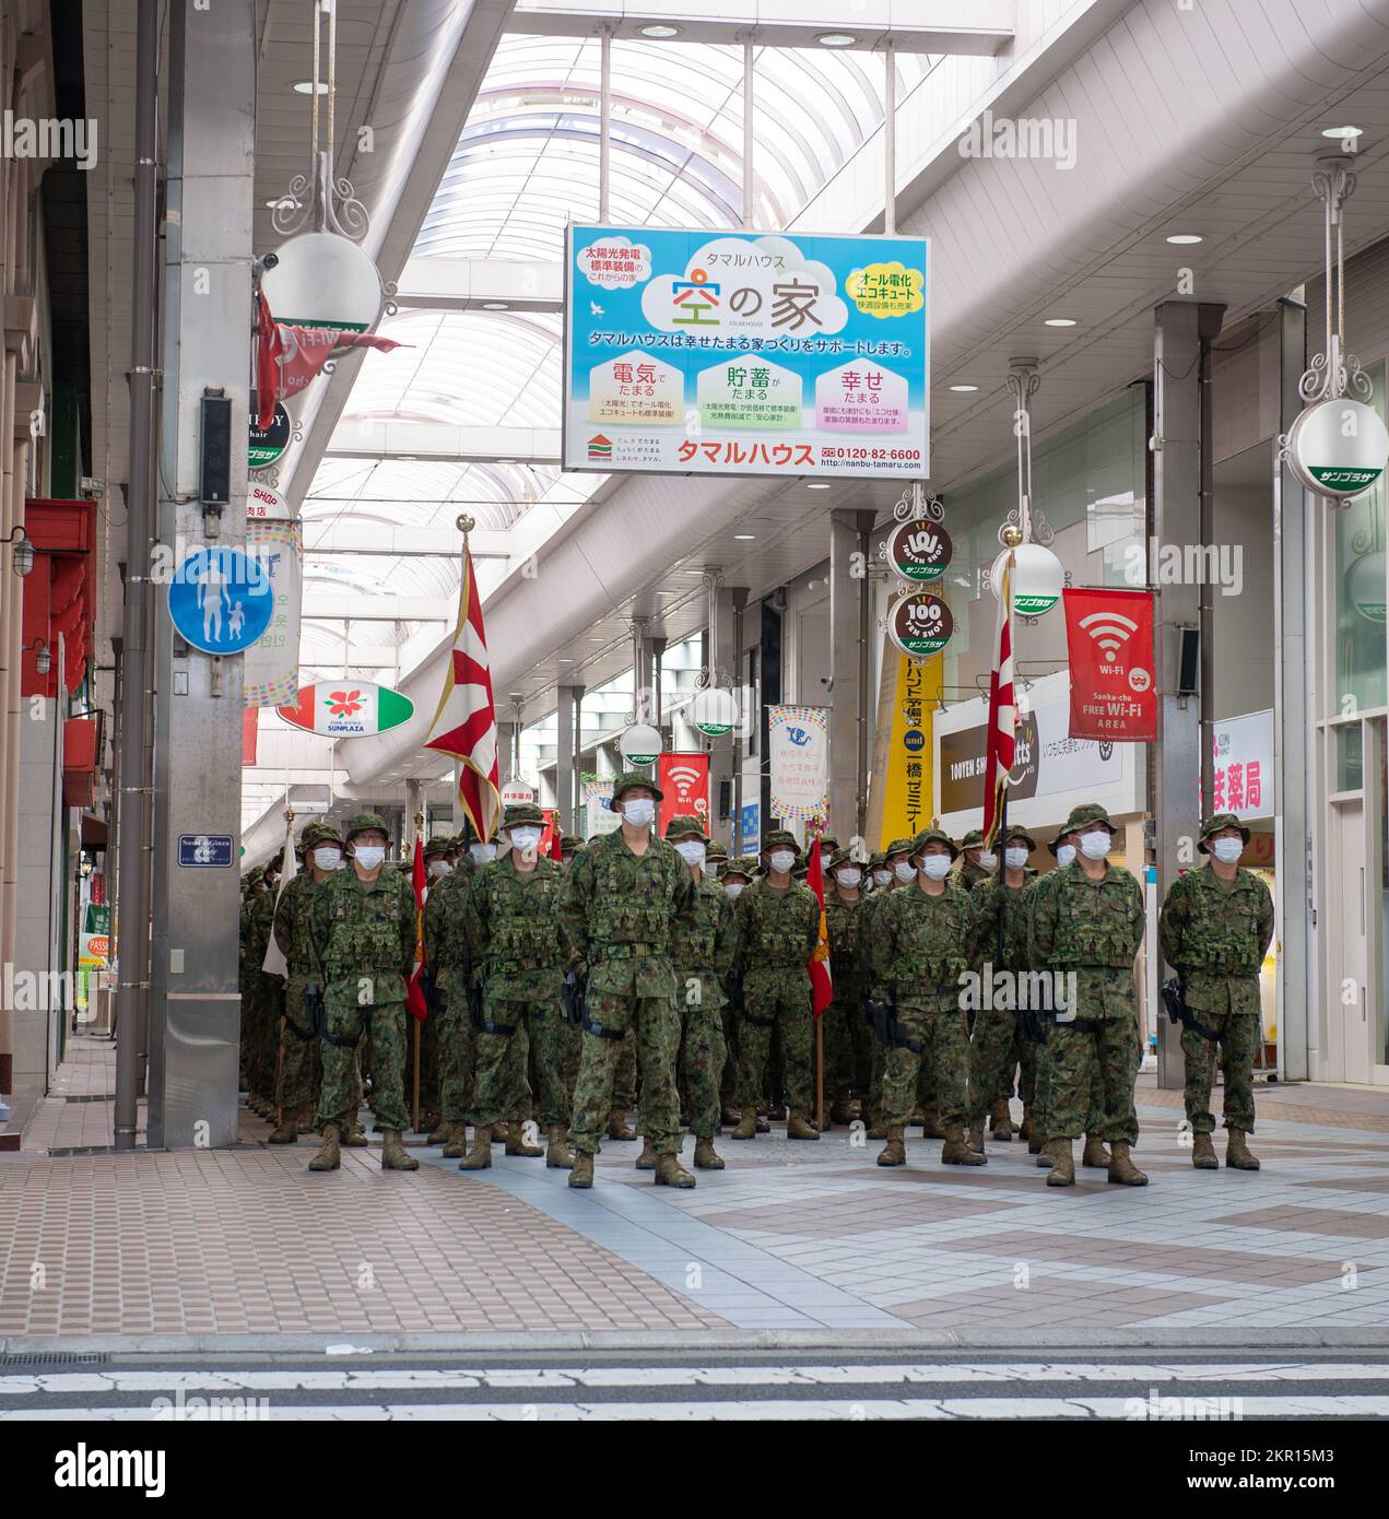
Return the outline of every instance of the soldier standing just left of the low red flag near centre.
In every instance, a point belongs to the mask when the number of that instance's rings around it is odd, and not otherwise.
[[[801,857],[795,835],[772,829],[763,840],[767,873],[739,898],[739,966],[743,1016],[739,1021],[739,1106],[734,1139],[757,1133],[757,1100],[767,1071],[772,1030],[781,1034],[789,1139],[819,1139],[810,1123],[815,1013],[810,957],[819,943],[821,905],[807,886],[792,881]]]

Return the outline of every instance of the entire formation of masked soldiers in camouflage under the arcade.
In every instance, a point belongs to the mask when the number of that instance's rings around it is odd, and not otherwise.
[[[614,787],[617,831],[539,854],[544,814],[506,808],[495,845],[426,846],[421,1129],[462,1170],[492,1145],[544,1157],[568,1185],[593,1185],[605,1138],[643,1139],[640,1170],[694,1186],[722,1170],[714,1141],[752,1141],[774,1120],[790,1139],[821,1136],[808,963],[821,907],[790,832],[758,857],[729,858],[701,819],[653,831],[661,794],[641,773]],[[866,1126],[877,1164],[904,1165],[907,1130],[942,1141],[947,1165],[985,1165],[985,1132],[1015,1136],[1049,1186],[1082,1167],[1143,1186],[1134,1089],[1141,1034],[1134,965],[1143,942],[1138,883],[1106,855],[1114,825],[1073,810],[1032,866],[1036,840],[1006,828],[1001,860],[980,834],[938,828],[894,840],[866,863],[822,837],[833,1003],[824,1013],[825,1127]],[[1201,829],[1199,867],[1173,883],[1161,949],[1176,969],[1193,1164],[1219,1165],[1210,1112],[1219,1062],[1226,1165],[1257,1170],[1252,1065],[1261,1039],[1258,971],[1272,901],[1240,869],[1249,831],[1232,814]],[[381,1165],[415,1170],[409,1127],[407,980],[416,907],[386,867],[381,817],[345,834],[312,823],[304,866],[275,898],[275,866],[251,872],[242,910],[243,1068],[252,1109],[277,1144],[321,1135],[310,1170],[368,1142],[363,1077],[383,1133]],[[286,980],[261,972],[274,933]],[[1011,1101],[1021,1098],[1023,1121]],[[471,1130],[471,1136],[470,1136]],[[544,1139],[544,1142],[538,1142]]]

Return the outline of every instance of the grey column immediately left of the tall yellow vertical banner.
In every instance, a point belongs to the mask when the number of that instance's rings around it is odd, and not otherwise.
[[[863,835],[868,769],[868,691],[863,681],[863,598],[868,561],[862,536],[872,512],[830,513],[830,831],[846,845]]]

